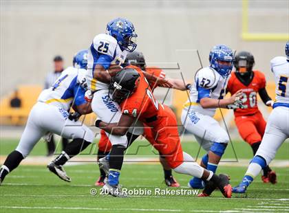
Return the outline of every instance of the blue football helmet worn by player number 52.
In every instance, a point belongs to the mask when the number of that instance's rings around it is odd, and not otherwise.
[[[208,60],[210,67],[215,69],[221,76],[227,78],[233,69],[233,52],[226,45],[215,45],[211,50]],[[228,62],[229,65],[222,65],[220,62]]]

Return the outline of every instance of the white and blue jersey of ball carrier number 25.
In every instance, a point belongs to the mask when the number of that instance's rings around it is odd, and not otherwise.
[[[127,51],[122,51],[116,38],[109,34],[98,34],[94,37],[88,49],[86,82],[88,89],[108,89],[109,85],[93,78],[96,65],[108,69],[110,65],[122,65],[127,57]]]

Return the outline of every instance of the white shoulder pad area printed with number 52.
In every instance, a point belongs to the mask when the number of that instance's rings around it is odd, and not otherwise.
[[[219,76],[217,75],[217,71],[211,69],[210,67],[204,67],[197,71],[195,75],[195,81],[198,81],[199,87],[203,87],[205,89],[211,89],[217,85],[217,81]]]

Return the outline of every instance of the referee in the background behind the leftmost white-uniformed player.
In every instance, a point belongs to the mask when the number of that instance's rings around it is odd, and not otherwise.
[[[44,89],[50,88],[54,84],[56,79],[61,75],[61,72],[64,70],[63,58],[61,56],[55,56],[53,61],[54,61],[54,71],[47,74],[45,78]],[[47,137],[46,139],[47,139],[47,149],[48,149],[47,156],[50,156],[50,155],[53,155],[55,151],[54,136],[52,135],[52,137]],[[63,149],[65,148],[67,144],[68,144],[68,139],[62,138]]]

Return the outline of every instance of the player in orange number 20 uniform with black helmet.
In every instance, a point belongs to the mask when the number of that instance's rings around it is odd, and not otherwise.
[[[265,132],[266,121],[257,106],[257,93],[267,106],[273,101],[266,91],[266,78],[261,71],[253,70],[255,59],[250,52],[239,52],[235,56],[236,71],[228,81],[227,91],[234,94],[242,89],[244,109],[235,109],[235,123],[241,137],[250,144],[253,154],[257,152]],[[276,173],[266,166],[261,179],[264,183],[276,183]]]

